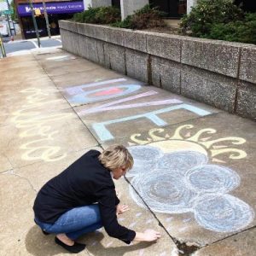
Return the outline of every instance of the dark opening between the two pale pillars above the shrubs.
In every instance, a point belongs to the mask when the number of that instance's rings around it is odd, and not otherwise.
[[[180,18],[187,13],[187,0],[150,0],[153,7],[166,13],[166,17]]]

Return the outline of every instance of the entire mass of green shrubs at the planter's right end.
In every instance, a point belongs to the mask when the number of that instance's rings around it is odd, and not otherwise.
[[[256,44],[256,14],[245,14],[232,0],[199,0],[181,28],[198,38]]]

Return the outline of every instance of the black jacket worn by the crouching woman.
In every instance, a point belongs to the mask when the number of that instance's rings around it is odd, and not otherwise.
[[[130,243],[136,233],[118,224],[116,205],[119,199],[109,170],[98,160],[99,154],[90,150],[49,180],[34,202],[35,216],[41,222],[54,224],[64,212],[97,202],[108,236]]]

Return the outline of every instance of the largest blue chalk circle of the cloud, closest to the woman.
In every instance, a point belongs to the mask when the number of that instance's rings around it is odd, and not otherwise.
[[[154,212],[191,212],[197,194],[180,183],[182,179],[181,172],[156,169],[154,172],[134,177],[131,184]],[[131,197],[137,201],[137,193],[132,189],[130,192]],[[138,204],[143,207],[141,201]]]

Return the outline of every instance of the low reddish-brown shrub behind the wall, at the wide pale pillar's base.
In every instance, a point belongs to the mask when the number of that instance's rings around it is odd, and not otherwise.
[[[166,26],[165,22],[161,19],[165,15],[163,12],[156,8],[151,8],[149,4],[145,5],[142,9],[129,15],[125,20],[116,22],[112,26],[118,26],[131,29],[145,29],[156,26]]]

